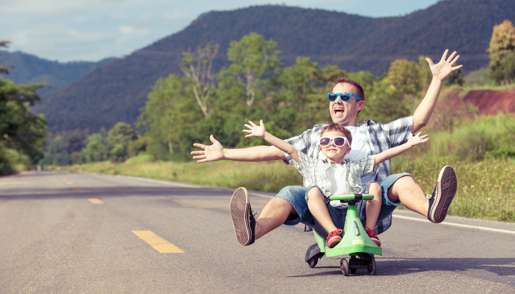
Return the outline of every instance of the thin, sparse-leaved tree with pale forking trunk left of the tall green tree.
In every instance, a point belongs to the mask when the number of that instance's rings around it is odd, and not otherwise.
[[[195,53],[187,51],[183,53],[181,67],[182,72],[192,82],[192,90],[195,100],[199,105],[205,117],[208,117],[212,111],[212,92],[215,88],[215,75],[211,72],[213,60],[218,53],[220,46],[210,45],[198,47]]]

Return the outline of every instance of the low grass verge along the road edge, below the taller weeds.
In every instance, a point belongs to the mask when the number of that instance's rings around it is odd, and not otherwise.
[[[482,161],[438,158],[434,162],[406,153],[392,161],[392,173],[406,171],[417,179],[427,194],[433,192],[444,165],[456,169],[458,191],[449,214],[515,222],[515,158],[488,158]],[[57,168],[57,167],[54,167]],[[293,166],[274,162],[126,162],[60,167],[72,171],[100,172],[195,183],[217,187],[278,192],[286,185],[301,185],[302,177]]]

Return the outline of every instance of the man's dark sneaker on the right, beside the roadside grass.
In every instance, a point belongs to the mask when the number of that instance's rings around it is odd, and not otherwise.
[[[436,182],[433,194],[427,195],[429,198],[429,210],[427,219],[434,223],[440,223],[447,216],[449,205],[456,194],[458,180],[454,169],[446,165],[440,170],[438,181]]]

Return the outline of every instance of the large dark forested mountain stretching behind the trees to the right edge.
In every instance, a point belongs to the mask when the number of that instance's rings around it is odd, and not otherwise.
[[[180,73],[183,51],[208,42],[220,44],[217,72],[228,64],[230,42],[250,32],[277,42],[285,65],[304,56],[320,66],[336,64],[348,72],[380,75],[395,59],[424,55],[438,60],[449,48],[461,55],[466,73],[487,66],[493,26],[505,19],[515,22],[515,1],[446,0],[389,18],[286,6],[212,11],[182,31],[44,95],[33,110],[46,115],[51,131],[88,127],[94,132],[119,121],[132,124],[156,80]]]

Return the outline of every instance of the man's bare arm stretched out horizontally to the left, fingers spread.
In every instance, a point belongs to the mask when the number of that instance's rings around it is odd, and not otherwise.
[[[213,145],[204,145],[194,143],[193,146],[203,150],[192,151],[193,159],[197,162],[209,162],[218,160],[233,160],[233,161],[269,161],[269,160],[285,160],[281,150],[274,146],[252,146],[248,148],[224,148],[213,135],[209,136],[209,140]]]

